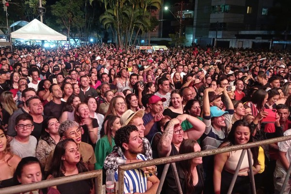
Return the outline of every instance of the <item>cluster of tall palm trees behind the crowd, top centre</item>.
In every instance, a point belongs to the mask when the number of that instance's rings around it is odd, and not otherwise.
[[[90,0],[92,3],[94,0]],[[118,46],[129,47],[132,35],[146,32],[151,26],[148,9],[160,9],[161,0],[100,0],[105,13],[99,17],[105,29],[116,33]],[[135,40],[136,40],[135,37]]]

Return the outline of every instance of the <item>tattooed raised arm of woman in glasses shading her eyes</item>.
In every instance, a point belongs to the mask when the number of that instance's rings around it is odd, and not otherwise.
[[[170,155],[171,152],[171,143],[173,138],[173,132],[175,125],[180,124],[180,121],[177,118],[173,118],[166,129],[162,133],[162,137],[158,144],[158,152],[160,157],[166,157]]]

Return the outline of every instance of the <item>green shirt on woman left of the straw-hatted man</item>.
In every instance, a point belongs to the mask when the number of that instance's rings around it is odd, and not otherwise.
[[[113,146],[115,146],[115,141],[113,137],[111,138],[111,144],[112,146],[110,146],[107,136],[102,137],[97,142],[95,148],[95,156],[97,160],[97,162],[95,163],[95,170],[100,170],[103,168],[106,156],[108,156],[112,152]]]

